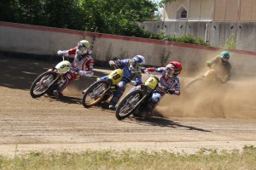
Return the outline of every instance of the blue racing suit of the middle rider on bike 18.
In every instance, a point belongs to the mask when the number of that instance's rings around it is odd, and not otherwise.
[[[113,107],[115,107],[115,105],[118,103],[121,96],[124,94],[125,85],[127,83],[134,82],[133,84],[131,83],[131,85],[133,86],[137,86],[143,83],[141,72],[132,72],[129,70],[129,65],[131,64],[132,61],[133,59],[118,59],[114,61],[115,65],[118,65],[121,67],[125,66],[125,67],[122,69],[124,71],[123,77],[121,81],[117,84],[117,89],[113,93],[112,99],[109,101],[109,105],[112,105]],[[108,79],[108,76],[101,77],[101,80],[107,80],[107,79]]]

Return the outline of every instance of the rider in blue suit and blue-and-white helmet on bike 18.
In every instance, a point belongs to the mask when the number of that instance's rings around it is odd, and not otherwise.
[[[119,99],[125,92],[125,85],[130,82],[132,86],[142,84],[142,67],[145,65],[145,58],[142,55],[136,55],[131,59],[110,60],[110,66],[125,66],[124,74],[121,81],[117,85],[117,90],[113,94],[113,98],[109,101],[109,109],[114,110]],[[107,80],[108,76],[101,77],[101,80]]]

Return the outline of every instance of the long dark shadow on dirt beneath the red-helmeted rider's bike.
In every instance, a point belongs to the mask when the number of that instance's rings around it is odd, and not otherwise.
[[[146,126],[159,126],[159,127],[172,127],[172,128],[183,127],[183,128],[187,128],[187,130],[195,130],[195,131],[201,131],[206,133],[212,132],[212,131],[198,128],[198,127],[182,125],[178,122],[173,122],[170,119],[166,119],[164,117],[149,116],[147,118],[140,118],[140,117],[131,116],[131,117],[128,117],[127,119],[131,120],[131,122],[129,121],[130,123],[133,123],[135,121],[137,124],[146,125]]]

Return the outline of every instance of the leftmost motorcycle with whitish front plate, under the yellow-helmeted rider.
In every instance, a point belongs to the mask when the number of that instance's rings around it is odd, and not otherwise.
[[[65,55],[62,55],[62,61],[55,65],[54,68],[45,71],[39,75],[30,88],[30,95],[32,98],[39,98],[44,94],[53,94],[53,91],[58,88],[61,81],[72,70],[71,63],[65,60]]]

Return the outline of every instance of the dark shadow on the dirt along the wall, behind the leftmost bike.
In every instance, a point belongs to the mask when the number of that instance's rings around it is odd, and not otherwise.
[[[57,62],[0,56],[0,86],[27,90],[30,88],[36,77],[44,71],[47,71],[49,68],[54,67],[56,64]],[[107,74],[102,71],[94,71],[94,77],[81,78],[78,81],[73,82],[79,84],[79,88],[86,88],[90,86],[90,83],[96,80],[96,77],[103,77],[106,75]]]

